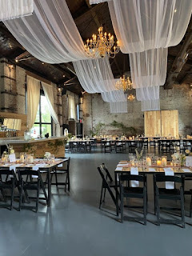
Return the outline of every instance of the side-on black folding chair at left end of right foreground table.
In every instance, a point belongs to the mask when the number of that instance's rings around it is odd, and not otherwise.
[[[102,177],[102,191],[101,191],[101,197],[99,202],[99,209],[101,209],[102,202],[105,202],[106,190],[108,190],[108,192],[110,193],[110,196],[114,202],[114,205],[116,206],[116,199],[111,189],[117,190],[118,188],[115,186],[115,182],[113,181],[113,178],[111,178],[109,171],[103,168],[103,164],[100,167],[98,167],[98,172]],[[103,190],[104,190],[104,197],[103,197]]]

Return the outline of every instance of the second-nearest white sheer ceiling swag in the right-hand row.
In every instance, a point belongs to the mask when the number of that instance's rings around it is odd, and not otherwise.
[[[164,85],[166,82],[167,53],[167,48],[158,48],[129,54],[134,88]]]

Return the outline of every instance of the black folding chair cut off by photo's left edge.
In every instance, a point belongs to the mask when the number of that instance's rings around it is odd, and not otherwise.
[[[7,202],[7,196],[5,194],[5,190],[6,189],[10,190],[10,204],[0,204],[0,207],[10,207],[10,210],[13,209],[15,187],[18,187],[18,180],[16,178],[14,170],[1,168],[0,169],[0,190],[2,192],[2,198],[4,199],[4,202]]]

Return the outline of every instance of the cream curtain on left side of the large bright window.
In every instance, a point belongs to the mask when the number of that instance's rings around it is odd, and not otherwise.
[[[40,98],[40,82],[26,76],[26,87],[27,87],[27,125],[29,129],[34,126],[34,121],[38,112],[38,104]]]

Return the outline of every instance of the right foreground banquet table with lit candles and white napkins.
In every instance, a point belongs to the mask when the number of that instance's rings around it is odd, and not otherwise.
[[[134,166],[135,167],[135,166]],[[191,177],[192,176],[192,167],[188,167],[188,166],[182,166],[182,167],[178,167],[178,166],[147,166],[147,167],[142,167],[142,166],[138,166],[138,174],[165,174],[165,170],[164,168],[168,168],[170,167],[173,171],[174,174],[177,175],[183,175],[185,177]],[[130,173],[130,168],[131,168],[131,164],[129,161],[120,161],[118,163],[118,166],[116,167],[116,169],[114,170],[114,178],[115,178],[115,186],[118,187],[118,175],[119,174],[126,174],[126,173]],[[118,192],[117,190],[115,190],[116,192],[116,212],[118,215]]]

